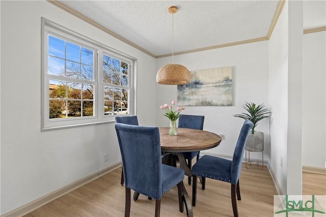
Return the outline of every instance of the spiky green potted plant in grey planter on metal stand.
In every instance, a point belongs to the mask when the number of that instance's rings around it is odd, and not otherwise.
[[[247,163],[251,165],[250,161],[250,151],[262,151],[262,158],[264,158],[264,134],[263,132],[255,131],[255,127],[258,125],[258,121],[269,117],[270,112],[265,108],[264,104],[256,105],[255,103],[244,103],[242,105],[247,113],[235,114],[234,117],[241,117],[243,119],[251,120],[254,123],[254,127],[251,129],[251,133],[248,135],[247,143],[246,143],[246,167]],[[249,151],[249,161],[247,162],[247,151]],[[262,159],[264,166],[264,159]],[[258,164],[259,167],[259,164]],[[262,167],[263,168],[263,167]],[[261,169],[262,169],[261,168]]]

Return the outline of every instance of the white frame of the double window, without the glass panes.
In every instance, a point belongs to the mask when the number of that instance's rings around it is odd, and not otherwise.
[[[95,85],[94,89],[94,116],[74,117],[74,118],[49,118],[49,79],[58,79],[60,76],[47,74],[47,49],[48,49],[48,34],[58,38],[63,38],[65,41],[86,46],[94,50],[94,81],[86,81]],[[55,22],[52,22],[42,17],[42,52],[41,52],[41,131],[72,128],[79,126],[95,125],[100,123],[115,122],[117,115],[104,115],[104,83],[103,83],[103,54],[116,57],[125,63],[128,63],[128,87],[116,85],[119,88],[128,89],[128,114],[119,115],[136,115],[136,69],[137,59],[127,54],[119,52],[102,43],[92,40],[86,36],[82,36],[70,29],[67,29]],[[76,81],[73,78],[65,77],[63,80]],[[78,79],[79,80],[79,79]],[[80,80],[78,81],[80,82]],[[107,84],[105,84],[107,86]],[[112,86],[112,85],[111,85]],[[115,85],[113,85],[115,86]]]

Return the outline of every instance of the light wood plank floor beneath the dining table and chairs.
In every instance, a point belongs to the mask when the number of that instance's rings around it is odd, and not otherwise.
[[[52,201],[33,212],[32,216],[124,216],[125,188],[120,185],[121,168],[85,184],[83,187]],[[306,195],[322,193],[325,195],[325,176],[320,176],[317,184],[304,184]],[[311,174],[304,174],[304,182],[311,182]],[[242,167],[240,174],[241,201],[238,201],[240,216],[273,216],[274,195],[277,195],[273,180],[267,168],[259,170],[257,166],[250,169]],[[192,196],[192,186],[184,184],[189,197]],[[218,180],[206,179],[206,189],[201,190],[198,183],[197,204],[193,207],[194,216],[233,216],[230,184]],[[317,191],[315,191],[317,189]],[[131,194],[133,192],[131,191]],[[315,194],[317,195],[317,194]],[[166,193],[161,199],[160,216],[186,216],[186,211],[179,212],[176,187]],[[130,216],[153,216],[155,201],[140,195],[138,201],[131,200]]]

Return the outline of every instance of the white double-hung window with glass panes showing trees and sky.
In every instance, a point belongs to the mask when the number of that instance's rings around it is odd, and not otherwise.
[[[42,32],[42,130],[135,113],[135,59],[45,18]]]

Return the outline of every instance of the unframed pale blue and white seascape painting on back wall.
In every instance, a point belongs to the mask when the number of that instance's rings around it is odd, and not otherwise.
[[[232,106],[232,67],[191,71],[178,85],[178,106]]]

